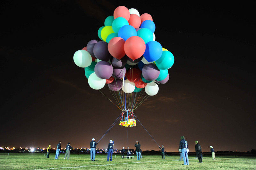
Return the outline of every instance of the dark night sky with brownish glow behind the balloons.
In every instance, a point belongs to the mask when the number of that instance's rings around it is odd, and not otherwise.
[[[0,146],[89,147],[121,111],[90,88],[73,55],[123,5],[149,13],[156,41],[174,55],[170,79],[136,109],[145,129],[118,123],[99,142],[106,148],[140,141],[142,150],[178,151],[184,135],[194,151],[255,149],[255,17],[249,3],[192,1],[1,1]],[[108,89],[103,88],[103,93]]]

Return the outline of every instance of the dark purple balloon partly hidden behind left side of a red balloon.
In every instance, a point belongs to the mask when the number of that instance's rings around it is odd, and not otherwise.
[[[93,54],[101,61],[108,61],[111,58],[108,52],[108,43],[105,41],[99,41],[93,47]]]

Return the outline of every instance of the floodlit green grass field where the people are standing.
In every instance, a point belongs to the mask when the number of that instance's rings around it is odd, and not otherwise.
[[[142,159],[122,159],[113,154],[112,162],[107,162],[107,155],[96,154],[96,161],[90,160],[90,154],[70,154],[70,159],[55,159],[55,154],[42,153],[0,153],[0,169],[256,169],[256,157],[247,156],[217,156],[212,160],[210,156],[203,157],[203,163],[198,163],[195,155],[188,155],[189,165],[182,165],[179,155],[142,155]]]

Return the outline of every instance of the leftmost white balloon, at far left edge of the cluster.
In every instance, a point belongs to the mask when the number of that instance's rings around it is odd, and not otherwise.
[[[79,67],[88,67],[92,64],[92,57],[90,53],[86,50],[78,50],[75,52],[73,56],[73,60],[76,64],[76,66]]]

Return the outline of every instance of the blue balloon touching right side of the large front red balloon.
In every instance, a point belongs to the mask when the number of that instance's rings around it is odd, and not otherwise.
[[[146,43],[146,50],[143,54],[144,58],[148,61],[158,60],[163,53],[163,47],[157,41],[150,41]]]

